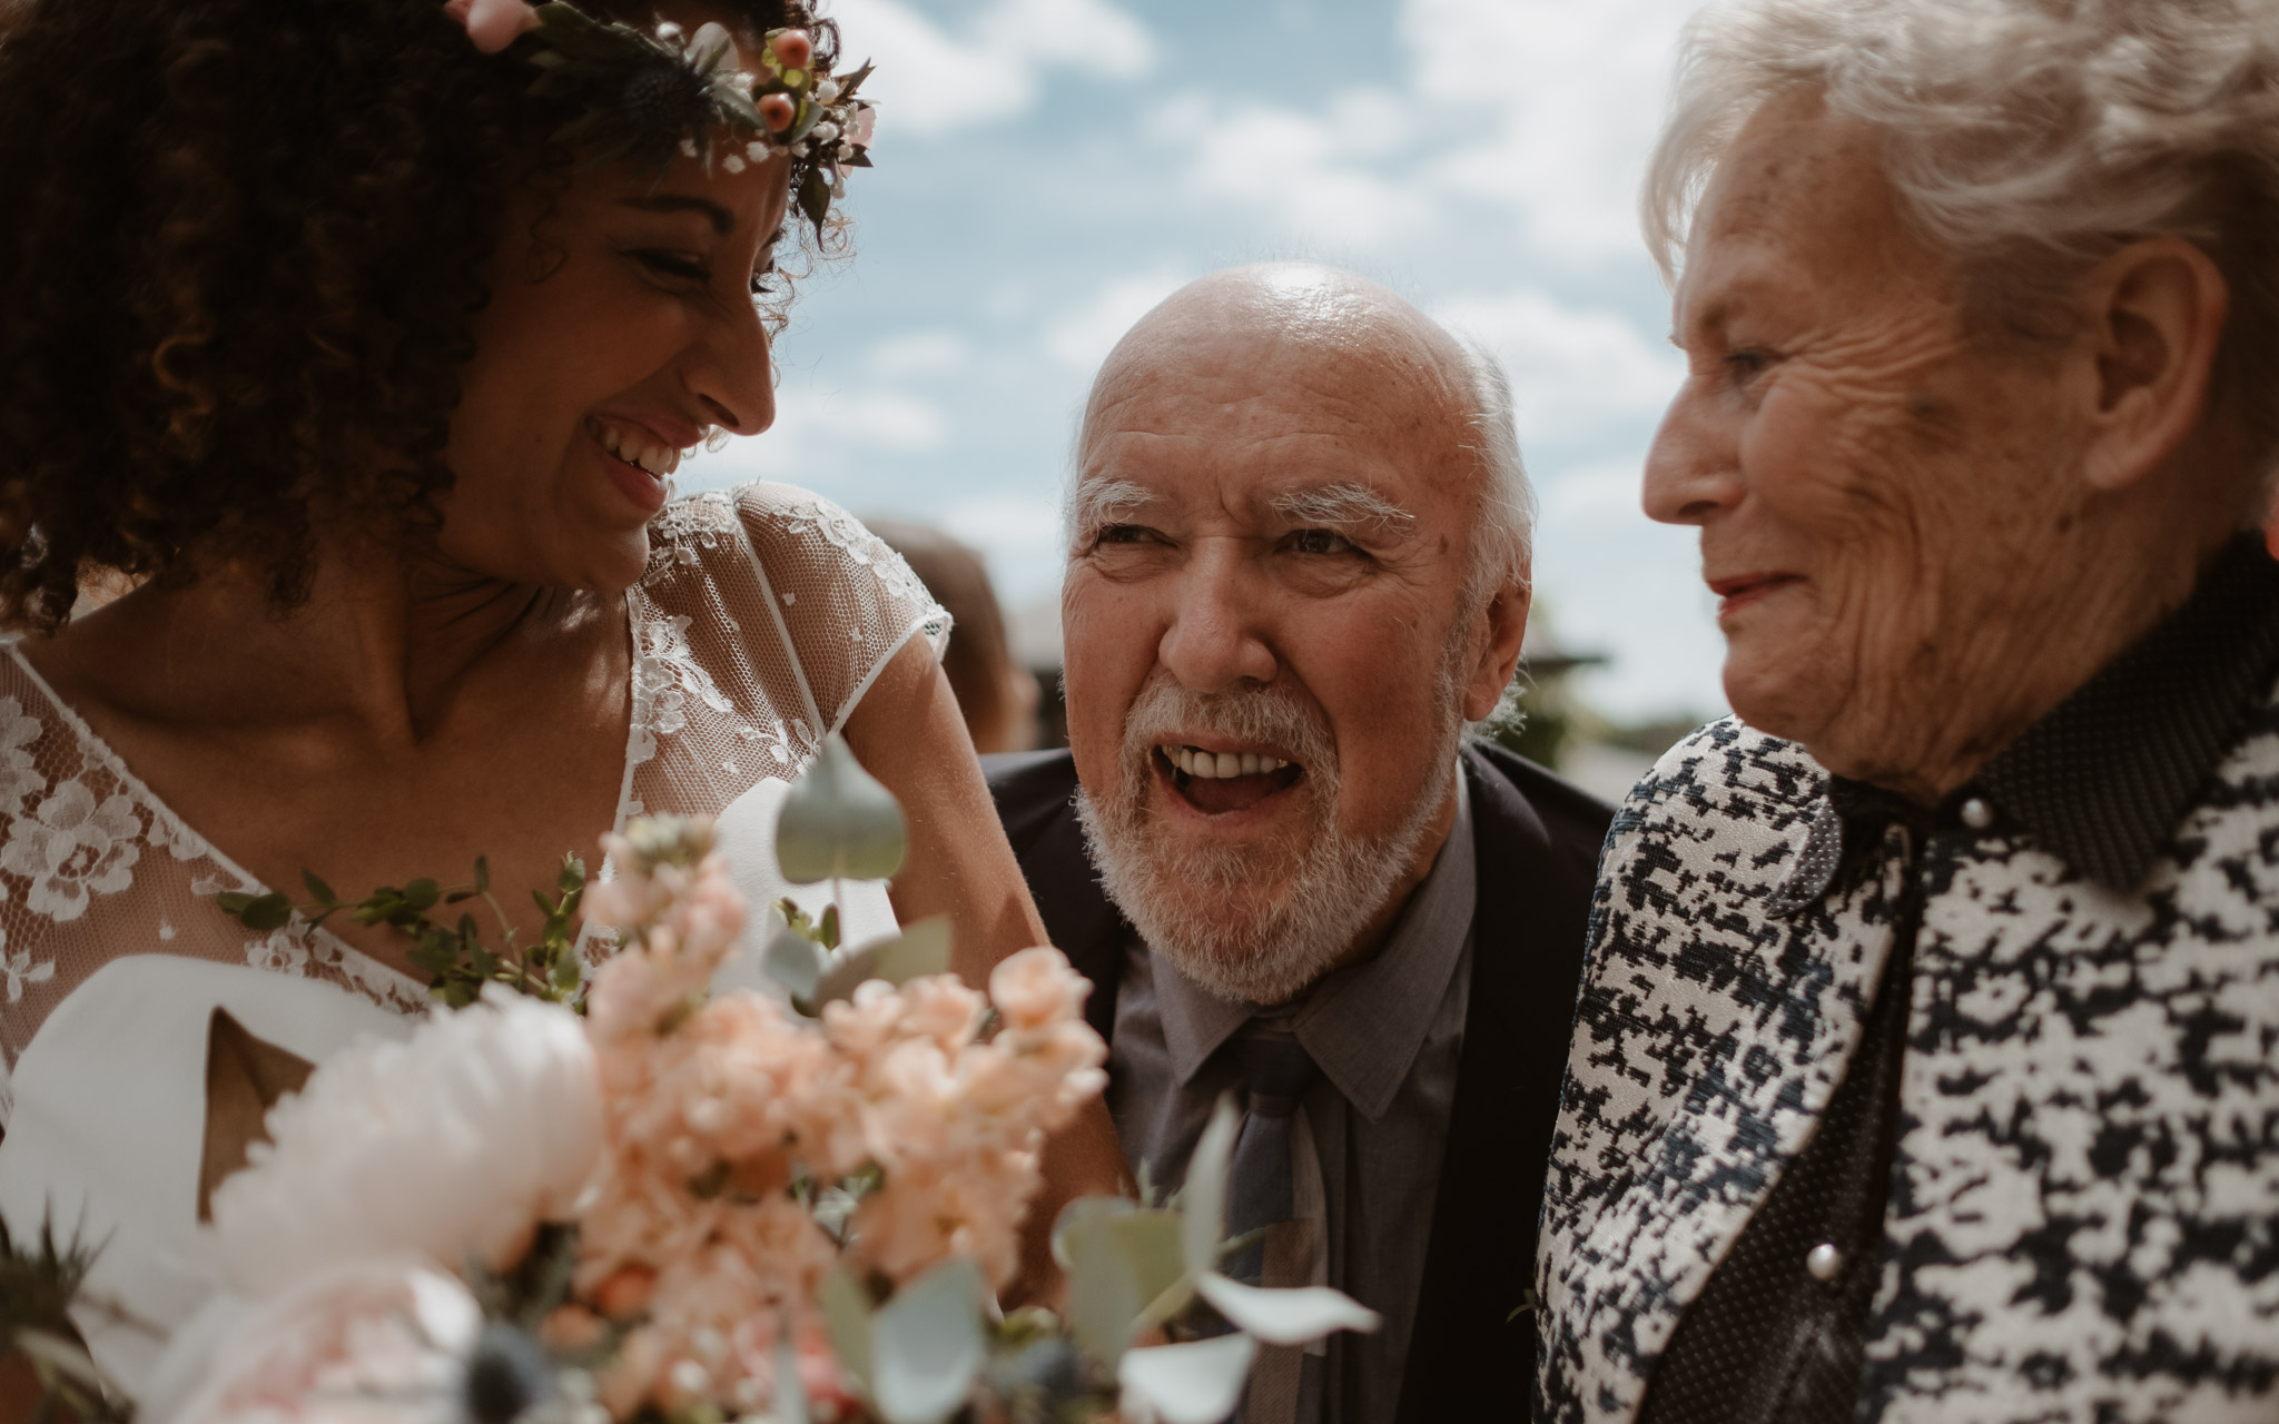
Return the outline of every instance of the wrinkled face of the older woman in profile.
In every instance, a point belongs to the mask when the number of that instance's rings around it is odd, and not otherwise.
[[[2049,362],[1974,337],[1955,287],[1871,134],[1769,109],[1696,216],[1645,472],[1645,510],[1700,526],[1734,711],[1926,795],[1953,727],[2019,729],[1990,702],[2065,622],[2035,604],[2085,497]]]

